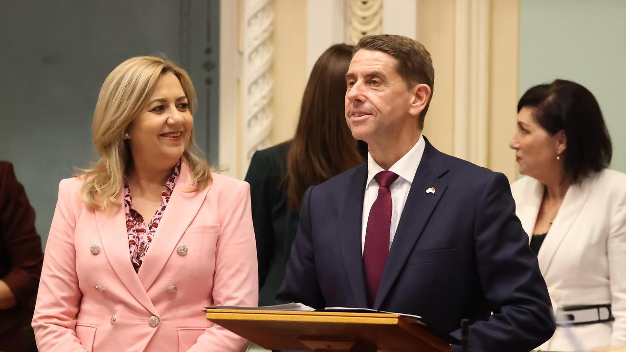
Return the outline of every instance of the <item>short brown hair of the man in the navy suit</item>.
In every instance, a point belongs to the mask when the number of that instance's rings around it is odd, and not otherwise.
[[[434,68],[430,53],[418,41],[396,34],[376,34],[363,36],[354,47],[352,54],[359,49],[376,50],[389,54],[398,61],[396,71],[407,87],[424,83],[431,88],[431,100],[434,91]],[[430,100],[419,114],[419,127],[424,128],[424,116]]]

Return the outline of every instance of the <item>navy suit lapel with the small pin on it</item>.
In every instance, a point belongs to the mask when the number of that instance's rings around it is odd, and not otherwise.
[[[424,139],[426,140],[425,137]],[[418,170],[416,170],[413,178],[413,183],[411,184],[411,189],[409,190],[409,195],[406,199],[406,204],[404,204],[398,228],[391,244],[381,284],[378,287],[376,301],[374,301],[374,309],[380,308],[382,301],[384,301],[391,286],[393,286],[394,281],[396,281],[404,267],[404,262],[406,262],[409,254],[413,252],[415,243],[418,241],[431,213],[441,197],[443,197],[444,192],[446,192],[448,185],[440,180],[439,177],[446,173],[448,169],[438,167],[438,154],[438,150],[426,140],[422,160],[419,162]],[[426,193],[426,190],[431,187],[436,192],[434,194]]]

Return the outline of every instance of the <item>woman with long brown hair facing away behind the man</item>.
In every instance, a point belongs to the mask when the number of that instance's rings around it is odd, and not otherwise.
[[[274,304],[285,276],[304,192],[364,162],[344,117],[352,46],[335,44],[317,59],[302,96],[295,136],[252,156],[252,220],[259,259],[259,304]]]

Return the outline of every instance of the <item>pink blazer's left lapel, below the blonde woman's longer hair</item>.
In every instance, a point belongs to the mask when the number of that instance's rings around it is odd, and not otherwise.
[[[126,231],[126,215],[123,205],[123,192],[118,195],[121,207],[113,213],[96,210],[96,225],[102,242],[102,249],[111,263],[113,270],[121,282],[135,299],[148,311],[157,314],[155,306],[141,285],[139,277],[130,262],[128,249],[128,232]],[[106,288],[106,287],[105,287]]]

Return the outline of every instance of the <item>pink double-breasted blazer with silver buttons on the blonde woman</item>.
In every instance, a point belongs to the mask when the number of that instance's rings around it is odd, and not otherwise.
[[[203,307],[257,304],[250,187],[216,173],[206,189],[185,192],[191,184],[183,163],[136,273],[123,207],[87,209],[81,180],[61,180],[33,317],[39,351],[245,349]]]

